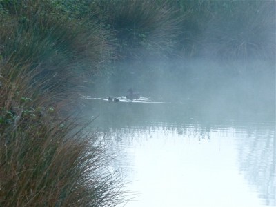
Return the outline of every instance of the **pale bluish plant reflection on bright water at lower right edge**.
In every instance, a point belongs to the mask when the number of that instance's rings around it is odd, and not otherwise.
[[[239,165],[248,182],[257,186],[265,204],[275,206],[275,129],[261,129],[248,130],[248,137],[240,141]]]

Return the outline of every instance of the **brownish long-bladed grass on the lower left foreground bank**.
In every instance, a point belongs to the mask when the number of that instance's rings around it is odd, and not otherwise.
[[[122,181],[99,135],[72,133],[76,120],[61,117],[51,95],[35,95],[21,71],[0,77],[0,206],[119,204]]]

